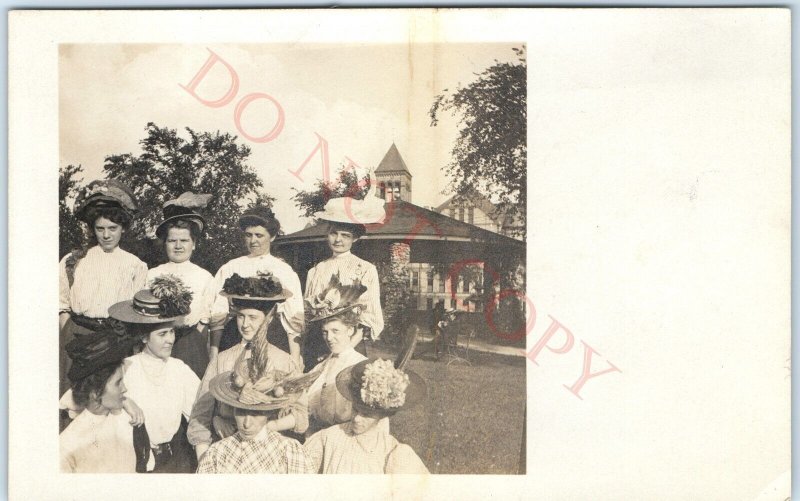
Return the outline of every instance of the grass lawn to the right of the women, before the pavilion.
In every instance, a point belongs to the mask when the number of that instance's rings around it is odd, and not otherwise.
[[[418,351],[427,349],[425,344]],[[370,356],[394,358],[381,344]],[[472,352],[472,366],[425,353],[407,368],[428,385],[426,400],[391,418],[392,434],[431,473],[516,474],[525,410],[525,358]]]

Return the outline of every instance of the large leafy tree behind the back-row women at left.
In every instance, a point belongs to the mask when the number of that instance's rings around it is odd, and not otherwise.
[[[139,243],[135,253],[149,266],[163,262],[163,251],[152,235],[162,219],[167,200],[185,191],[210,193],[203,211],[206,234],[192,260],[212,273],[242,254],[237,220],[243,207],[255,201],[272,205],[274,198],[259,192],[261,180],[247,164],[250,148],[236,143],[236,136],[219,131],[195,132],[186,127],[188,140],[176,129],[150,122],[139,144],[138,156],[109,155],[103,171],[130,186],[140,205],[131,233]]]

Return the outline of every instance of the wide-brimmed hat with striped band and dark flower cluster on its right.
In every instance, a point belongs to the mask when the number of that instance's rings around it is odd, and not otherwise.
[[[149,289],[137,292],[133,299],[120,301],[108,314],[130,324],[170,323],[189,314],[192,292],[175,275],[161,275]]]

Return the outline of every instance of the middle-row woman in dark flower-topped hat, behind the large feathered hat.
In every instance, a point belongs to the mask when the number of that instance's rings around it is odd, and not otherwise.
[[[280,321],[277,305],[292,295],[277,278],[271,273],[250,278],[234,274],[225,281],[221,294],[231,302],[241,341],[211,360],[200,384],[187,432],[198,459],[215,439],[226,438],[236,432],[233,408],[215,401],[209,391],[211,380],[233,370],[239,360],[253,357],[268,360],[269,370],[280,371],[282,377],[302,374],[294,358],[267,340],[270,323]],[[303,433],[308,428],[308,398],[305,392],[301,398],[281,409],[277,419],[268,421],[266,426],[272,431]]]

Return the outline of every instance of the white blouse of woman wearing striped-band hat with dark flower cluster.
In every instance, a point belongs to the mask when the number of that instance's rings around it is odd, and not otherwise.
[[[181,415],[189,420],[200,388],[200,379],[182,361],[172,357],[165,361],[145,352],[125,359],[123,381],[126,396],[144,413],[151,445],[172,440]]]

